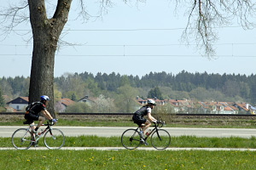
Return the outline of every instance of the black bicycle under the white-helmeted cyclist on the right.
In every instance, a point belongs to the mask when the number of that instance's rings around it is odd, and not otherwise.
[[[170,134],[166,130],[160,129],[160,127],[163,127],[164,124],[165,122],[155,122],[153,130],[148,133],[144,139],[146,142],[148,137],[151,135],[150,141],[156,150],[165,150],[171,144]],[[140,131],[141,127],[137,127],[136,129],[129,128],[125,130],[125,132],[122,134],[121,142],[126,149],[135,150],[137,147],[143,144],[139,135]]]

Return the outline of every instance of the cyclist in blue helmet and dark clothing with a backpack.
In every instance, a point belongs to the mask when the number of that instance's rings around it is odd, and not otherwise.
[[[26,124],[34,124],[34,121],[38,121],[38,126],[33,127],[34,129],[32,130],[33,133],[36,135],[38,134],[38,128],[44,123],[45,118],[52,122],[56,122],[55,119],[53,119],[52,116],[50,116],[49,111],[46,110],[45,105],[48,104],[49,97],[46,95],[43,95],[40,97],[41,101],[40,102],[35,102],[35,105],[32,105],[32,108],[29,111],[26,111],[25,114],[25,119],[26,119]],[[43,113],[45,118],[43,116],[39,116],[40,112]]]

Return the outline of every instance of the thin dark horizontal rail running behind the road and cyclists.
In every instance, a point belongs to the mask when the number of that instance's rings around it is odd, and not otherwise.
[[[0,115],[25,115],[25,112],[0,112]],[[133,113],[57,113],[57,115],[109,115],[109,116],[127,116],[127,115],[133,115]],[[172,114],[172,116],[256,116],[256,115],[247,115],[247,114],[198,114],[198,113],[176,113]]]

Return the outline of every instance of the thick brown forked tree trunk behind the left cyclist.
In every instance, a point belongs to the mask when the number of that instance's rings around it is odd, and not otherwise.
[[[47,110],[54,117],[55,50],[67,22],[71,2],[58,0],[53,18],[47,19],[44,0],[28,0],[33,34],[29,103],[39,100],[41,95],[48,95]]]

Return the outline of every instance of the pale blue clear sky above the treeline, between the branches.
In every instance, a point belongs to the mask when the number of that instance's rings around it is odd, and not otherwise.
[[[73,0],[61,34],[61,41],[73,46],[62,44],[56,51],[55,77],[85,71],[94,75],[115,72],[139,77],[150,71],[247,76],[256,73],[255,30],[245,31],[236,22],[218,28],[216,55],[208,59],[196,48],[193,38],[189,39],[189,46],[181,40],[188,17],[182,10],[174,13],[169,1],[115,3],[102,18],[86,22],[77,19],[77,4]],[[91,14],[98,12],[96,4],[88,4],[87,8]],[[27,23],[15,28],[15,33],[8,37],[0,37],[0,77],[30,76],[32,34],[26,34],[30,29]]]

